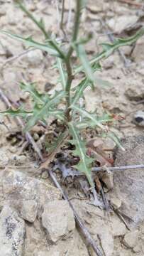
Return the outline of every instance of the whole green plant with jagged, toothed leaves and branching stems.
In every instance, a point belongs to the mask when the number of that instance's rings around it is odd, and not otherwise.
[[[1,112],[1,114],[9,114],[13,117],[23,117],[26,120],[25,131],[31,129],[39,120],[47,122],[48,117],[51,116],[62,122],[62,124],[65,125],[65,130],[67,130],[70,137],[72,137],[72,139],[69,140],[70,144],[74,145],[75,147],[72,154],[74,156],[79,156],[80,159],[79,163],[75,167],[87,176],[90,186],[93,187],[94,182],[91,175],[91,165],[94,159],[87,156],[86,142],[84,139],[82,139],[83,129],[86,129],[87,127],[97,129],[101,136],[109,136],[114,139],[119,146],[121,146],[121,144],[118,142],[115,135],[111,133],[110,129],[107,129],[107,125],[105,128],[105,124],[114,122],[115,119],[113,118],[113,115],[104,114],[103,117],[98,117],[96,112],[87,112],[84,107],[79,105],[79,99],[84,97],[84,90],[88,86],[91,86],[93,90],[95,84],[109,85],[108,82],[97,78],[95,75],[96,70],[101,69],[100,60],[108,58],[108,56],[119,47],[131,45],[137,41],[140,36],[143,36],[144,28],[141,28],[140,31],[129,38],[118,38],[113,43],[102,43],[103,50],[101,53],[94,55],[91,60],[88,60],[87,53],[84,50],[84,44],[90,40],[91,35],[82,39],[78,37],[80,17],[82,9],[86,4],[85,1],[76,1],[72,39],[70,43],[67,43],[66,45],[62,43],[62,46],[57,42],[56,38],[53,38],[50,33],[46,31],[43,19],[40,19],[40,21],[35,19],[35,17],[26,9],[26,7],[23,6],[20,0],[17,0],[16,3],[43,32],[45,42],[40,43],[38,41],[34,41],[32,37],[23,38],[6,31],[1,31],[0,33],[21,41],[25,43],[26,46],[43,50],[52,55],[56,59],[55,67],[60,73],[62,89],[55,92],[55,95],[49,95],[48,93],[40,94],[40,92],[35,89],[35,85],[33,83],[26,84],[21,82],[21,89],[29,92],[33,98],[33,108],[31,111],[26,111],[25,107],[21,106],[16,110],[9,109]],[[68,50],[65,50],[67,47]],[[81,63],[81,65],[78,67],[75,67],[72,62],[72,53],[74,51]],[[83,73],[83,79],[76,87],[72,89],[72,80],[74,80],[76,75],[79,73]],[[65,100],[65,110],[62,110],[59,107],[61,100]],[[81,117],[81,121],[79,121],[79,117]],[[57,144],[61,144],[64,139],[65,136],[60,134],[60,137],[57,139],[55,144],[53,144],[52,150],[55,150]]]

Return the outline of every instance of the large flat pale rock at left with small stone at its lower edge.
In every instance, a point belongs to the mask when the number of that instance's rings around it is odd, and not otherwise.
[[[57,188],[20,171],[5,170],[2,186],[5,201],[29,222],[35,220],[37,213],[41,216],[45,203],[60,198]]]

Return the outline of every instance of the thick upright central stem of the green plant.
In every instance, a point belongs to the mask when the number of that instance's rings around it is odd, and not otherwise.
[[[80,14],[81,14],[81,7],[82,7],[82,0],[76,0],[76,13],[74,18],[74,27],[72,33],[72,40],[70,42],[70,48],[67,52],[65,58],[65,65],[67,70],[67,82],[65,87],[66,92],[66,100],[67,100],[67,107],[66,107],[66,117],[67,121],[70,121],[70,88],[72,85],[73,75],[72,75],[72,65],[71,65],[71,56],[73,53],[73,44],[77,41],[77,36],[79,33],[79,23],[80,23]]]

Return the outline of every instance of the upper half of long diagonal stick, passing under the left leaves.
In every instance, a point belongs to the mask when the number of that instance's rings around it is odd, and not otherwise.
[[[4,95],[4,92],[2,92],[1,89],[0,89],[0,97],[4,101],[4,103],[6,104],[6,107],[11,107],[11,102],[9,102],[9,99],[6,97],[6,95]],[[22,128],[24,128],[23,121],[21,120],[20,117],[16,117],[16,121],[18,122],[18,124]],[[31,136],[31,134],[29,132],[26,132],[26,140],[28,141],[28,143],[31,143],[31,145],[33,146],[33,149],[35,150],[35,152],[40,157],[40,160],[43,161],[43,156],[40,152],[40,149],[38,148],[37,144],[35,143],[33,137]]]

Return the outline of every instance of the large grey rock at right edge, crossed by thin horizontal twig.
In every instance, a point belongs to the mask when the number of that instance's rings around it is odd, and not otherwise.
[[[144,160],[144,137],[131,136],[121,141],[126,151],[118,149],[116,152],[116,166],[128,166],[143,163]],[[113,194],[122,203],[119,208],[121,213],[127,215],[135,223],[144,220],[144,172],[143,169],[115,171],[113,178],[113,191],[109,192],[110,198]]]

